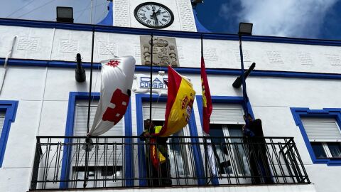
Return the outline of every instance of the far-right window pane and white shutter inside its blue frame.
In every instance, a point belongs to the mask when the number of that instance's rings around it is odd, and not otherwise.
[[[316,159],[341,159],[341,132],[335,118],[303,117],[301,121]]]

